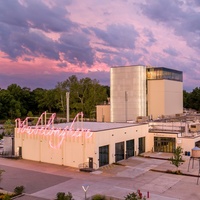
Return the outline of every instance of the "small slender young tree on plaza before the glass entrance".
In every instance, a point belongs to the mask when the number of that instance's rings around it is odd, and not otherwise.
[[[178,146],[174,151],[174,155],[170,158],[171,164],[175,165],[177,168],[176,173],[180,173],[178,168],[184,162],[181,155],[182,153],[183,153],[183,149],[180,146]]]

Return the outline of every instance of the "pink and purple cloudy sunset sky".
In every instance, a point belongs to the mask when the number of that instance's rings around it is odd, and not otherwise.
[[[113,66],[183,71],[200,87],[200,0],[0,0],[0,88],[53,89]]]

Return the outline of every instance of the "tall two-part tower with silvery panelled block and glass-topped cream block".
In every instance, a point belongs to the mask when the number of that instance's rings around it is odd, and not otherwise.
[[[183,113],[182,72],[143,65],[112,67],[111,122]]]

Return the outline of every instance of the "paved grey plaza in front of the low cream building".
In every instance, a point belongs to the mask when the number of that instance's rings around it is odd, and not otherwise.
[[[104,194],[124,199],[127,194],[140,190],[145,196],[149,193],[148,199],[151,200],[199,200],[199,161],[191,161],[188,172],[190,157],[183,156],[185,162],[180,170],[188,176],[163,173],[176,169],[163,159],[171,156],[164,153],[145,154],[145,157],[132,157],[119,162],[119,165],[104,166],[91,173],[66,166],[0,158],[0,169],[5,171],[0,188],[13,191],[16,186],[23,185],[26,195],[16,200],[53,200],[58,192],[71,192],[75,200],[83,200],[83,185],[89,185],[87,197]]]

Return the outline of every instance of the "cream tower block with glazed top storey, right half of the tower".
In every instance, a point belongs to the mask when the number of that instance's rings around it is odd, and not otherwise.
[[[147,115],[152,119],[183,113],[182,72],[147,68]]]

